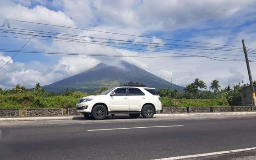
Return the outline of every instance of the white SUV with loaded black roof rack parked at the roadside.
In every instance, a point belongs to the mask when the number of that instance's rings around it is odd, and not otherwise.
[[[105,119],[109,114],[127,113],[133,118],[140,114],[152,118],[162,109],[160,96],[155,88],[120,86],[109,89],[101,95],[90,95],[78,100],[77,111],[87,119]]]

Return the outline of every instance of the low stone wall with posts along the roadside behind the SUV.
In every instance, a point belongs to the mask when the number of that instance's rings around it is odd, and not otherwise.
[[[156,113],[197,113],[197,112],[256,112],[254,106],[227,106],[227,107],[162,107],[161,111]],[[63,116],[63,108],[34,108],[26,109],[25,116]],[[67,108],[69,116],[79,116],[82,113],[77,112],[76,108]],[[18,117],[21,116],[20,109],[0,109],[0,117]]]

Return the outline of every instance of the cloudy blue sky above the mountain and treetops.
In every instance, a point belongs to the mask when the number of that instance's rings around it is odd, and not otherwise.
[[[28,24],[15,20],[233,46],[242,46],[241,40],[245,39],[247,47],[256,48],[255,8],[255,0],[2,0],[0,25],[9,18],[10,26],[15,28],[165,44],[202,45]],[[9,28],[5,26],[2,29]],[[1,36],[31,37],[0,32],[0,49],[11,50],[19,50],[28,39]],[[60,42],[56,39],[54,41],[41,39],[40,37],[33,38],[23,48],[23,51],[133,56],[167,55],[86,43]],[[143,49],[142,47],[136,48]],[[146,49],[151,50],[152,48]],[[165,52],[203,54],[174,50],[165,50]],[[211,52],[236,54],[238,56],[229,56],[228,58],[244,59],[243,52],[217,50]],[[0,66],[9,61],[14,54],[15,52],[0,51]],[[249,54],[249,58],[253,59],[254,57],[251,56],[253,54]],[[149,59],[18,53],[10,61],[11,63],[0,70],[0,87],[12,88],[19,83],[29,88],[37,82],[46,85],[83,72],[98,63],[118,65],[121,60],[142,67],[168,81],[173,78],[173,82],[181,86],[185,86],[195,78],[204,80],[208,86],[213,79],[218,79],[221,86],[232,85],[242,80],[248,82],[244,61],[223,62],[202,57]],[[256,79],[256,74],[253,72],[256,69],[256,63],[251,62],[250,65],[252,76]]]

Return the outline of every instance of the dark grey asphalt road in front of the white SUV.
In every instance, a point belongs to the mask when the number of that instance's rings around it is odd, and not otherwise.
[[[256,147],[256,117],[66,122],[0,126],[0,159],[151,160]]]

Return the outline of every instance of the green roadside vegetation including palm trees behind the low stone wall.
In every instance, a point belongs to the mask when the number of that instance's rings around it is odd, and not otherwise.
[[[241,103],[241,95],[238,91],[248,85],[239,82],[221,89],[218,80],[213,80],[208,87],[204,81],[196,78],[183,92],[163,88],[159,89],[158,93],[165,107],[228,106]],[[0,108],[74,108],[79,98],[101,94],[107,89],[101,87],[92,93],[66,89],[61,93],[52,93],[46,92],[39,83],[33,89],[17,84],[11,90],[0,88]]]

